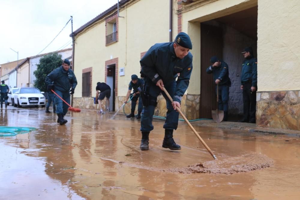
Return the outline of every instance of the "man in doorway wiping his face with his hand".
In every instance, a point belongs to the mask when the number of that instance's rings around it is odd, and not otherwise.
[[[219,85],[219,101],[218,109],[224,111],[223,121],[228,120],[228,100],[229,100],[229,72],[228,65],[224,61],[220,61],[217,56],[210,58],[211,66],[206,69],[206,73],[213,73],[214,82]],[[216,87],[217,91],[217,87]]]

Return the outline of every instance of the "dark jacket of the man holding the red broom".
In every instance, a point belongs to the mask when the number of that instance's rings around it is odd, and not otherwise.
[[[45,80],[47,85],[53,85],[55,89],[61,92],[68,92],[70,88],[74,88],[77,85],[77,79],[71,69],[68,71],[64,70],[62,66],[56,68],[46,76]]]

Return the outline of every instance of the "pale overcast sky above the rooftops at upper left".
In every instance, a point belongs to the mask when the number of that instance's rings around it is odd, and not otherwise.
[[[0,0],[0,64],[37,55],[73,15],[73,31],[118,0]],[[71,22],[42,53],[71,48]]]

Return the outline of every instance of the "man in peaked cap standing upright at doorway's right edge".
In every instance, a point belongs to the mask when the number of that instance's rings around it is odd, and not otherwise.
[[[241,73],[241,90],[243,90],[244,117],[239,122],[256,123],[257,59],[253,57],[251,47],[242,52],[244,62]]]

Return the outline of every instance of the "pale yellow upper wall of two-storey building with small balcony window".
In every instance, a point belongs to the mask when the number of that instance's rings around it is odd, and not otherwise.
[[[131,75],[140,75],[140,53],[155,43],[169,41],[169,12],[166,10],[169,10],[169,1],[142,0],[125,6],[120,11],[124,18],[119,18],[119,41],[109,46],[105,46],[105,21],[77,36],[74,72],[78,87],[74,97],[81,97],[82,69],[88,67],[93,67],[92,96],[95,97],[96,83],[105,79],[105,61],[112,58],[119,58],[119,69],[125,67],[125,76],[118,76],[118,96],[125,96]]]

